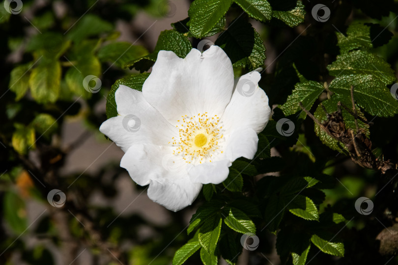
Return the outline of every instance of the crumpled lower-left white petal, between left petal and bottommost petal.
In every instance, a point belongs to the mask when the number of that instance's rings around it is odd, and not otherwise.
[[[130,177],[139,185],[148,185],[150,181],[175,176],[185,176],[186,163],[181,157],[172,155],[171,147],[153,144],[135,144],[131,146],[120,161]]]

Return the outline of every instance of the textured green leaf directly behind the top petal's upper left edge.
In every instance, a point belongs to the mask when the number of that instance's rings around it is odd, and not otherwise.
[[[142,56],[141,58],[129,61],[124,67],[136,68],[144,72],[147,71],[156,61],[159,51],[172,51],[178,57],[184,58],[192,50],[192,44],[188,38],[175,30],[165,30],[159,35],[153,53]]]

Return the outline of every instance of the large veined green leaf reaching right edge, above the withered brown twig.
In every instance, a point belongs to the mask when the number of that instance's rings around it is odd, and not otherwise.
[[[398,101],[391,96],[386,84],[374,75],[340,75],[332,80],[329,89],[341,98],[350,99],[351,85],[355,86],[355,102],[371,115],[389,117],[398,113]]]

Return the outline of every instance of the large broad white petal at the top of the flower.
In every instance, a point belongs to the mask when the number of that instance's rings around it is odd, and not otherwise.
[[[227,54],[211,46],[203,54],[192,49],[186,58],[160,51],[142,92],[173,125],[183,115],[208,112],[221,115],[233,89],[233,70]]]

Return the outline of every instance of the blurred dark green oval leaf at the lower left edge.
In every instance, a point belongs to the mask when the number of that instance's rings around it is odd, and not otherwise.
[[[25,232],[28,227],[25,202],[14,192],[5,191],[3,197],[4,220],[18,235]]]

